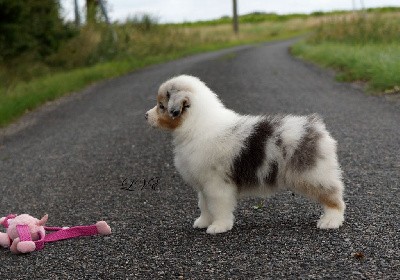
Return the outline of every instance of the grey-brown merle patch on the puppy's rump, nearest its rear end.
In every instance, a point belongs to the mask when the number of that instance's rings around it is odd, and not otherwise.
[[[311,119],[309,119],[310,121]],[[315,166],[318,158],[318,141],[321,133],[313,126],[316,119],[312,119],[305,127],[303,137],[296,147],[290,160],[290,166],[296,171],[304,171]]]

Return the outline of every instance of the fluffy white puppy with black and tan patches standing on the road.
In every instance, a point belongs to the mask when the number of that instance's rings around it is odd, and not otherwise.
[[[175,166],[198,192],[201,215],[193,227],[226,232],[233,227],[238,198],[282,189],[322,205],[318,228],[342,225],[336,141],[319,116],[239,115],[198,78],[182,75],[160,86],[146,119],[172,132]]]

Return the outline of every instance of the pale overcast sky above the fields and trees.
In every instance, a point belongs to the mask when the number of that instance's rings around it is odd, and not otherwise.
[[[61,0],[67,18],[73,17],[74,0]],[[85,0],[78,0],[83,8]],[[277,14],[351,10],[364,2],[367,8],[397,6],[400,0],[237,0],[239,14],[255,11]],[[147,13],[160,22],[197,21],[220,18],[232,13],[232,0],[108,0],[111,21],[123,21],[129,15]]]

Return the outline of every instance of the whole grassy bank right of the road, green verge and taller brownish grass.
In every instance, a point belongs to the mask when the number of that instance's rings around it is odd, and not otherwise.
[[[400,10],[386,8],[325,19],[292,53],[339,70],[340,81],[372,92],[400,92]]]

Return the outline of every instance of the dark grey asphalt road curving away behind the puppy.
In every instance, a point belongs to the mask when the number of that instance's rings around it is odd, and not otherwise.
[[[153,66],[1,130],[0,216],[48,213],[54,226],[106,220],[113,230],[23,256],[0,249],[1,279],[399,279],[399,102],[335,82],[292,58],[291,43]],[[261,209],[253,206],[262,200],[240,202],[228,233],[192,229],[195,193],[173,167],[168,133],[144,119],[159,84],[181,73],[242,113],[321,114],[339,143],[344,226],[318,230],[318,206],[285,192]]]

